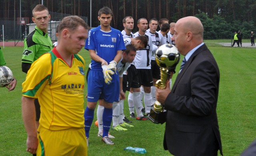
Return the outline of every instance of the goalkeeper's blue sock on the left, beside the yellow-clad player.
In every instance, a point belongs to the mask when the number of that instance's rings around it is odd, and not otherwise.
[[[84,126],[85,126],[84,130],[85,130],[85,135],[88,138],[89,138],[89,131],[92,125],[93,117],[94,117],[94,109],[89,109],[88,107],[86,107],[84,111]]]

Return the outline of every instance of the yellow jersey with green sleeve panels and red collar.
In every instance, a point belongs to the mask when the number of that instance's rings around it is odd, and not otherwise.
[[[69,66],[55,48],[31,65],[22,94],[38,98],[42,127],[51,131],[84,127],[84,68],[80,55],[73,55]]]

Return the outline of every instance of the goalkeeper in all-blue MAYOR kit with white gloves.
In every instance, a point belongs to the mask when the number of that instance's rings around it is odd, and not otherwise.
[[[92,58],[92,68],[88,75],[88,97],[84,112],[84,125],[88,141],[89,131],[94,117],[94,109],[100,94],[104,99],[103,134],[102,141],[106,144],[114,144],[108,137],[108,131],[112,122],[112,104],[119,101],[119,77],[116,64],[125,50],[122,33],[110,27],[112,11],[108,7],[101,8],[98,12],[100,25],[88,33],[85,49]]]

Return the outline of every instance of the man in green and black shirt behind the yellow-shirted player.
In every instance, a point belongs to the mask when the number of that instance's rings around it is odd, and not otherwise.
[[[32,31],[24,40],[24,52],[22,55],[22,72],[28,73],[31,64],[36,61],[44,53],[52,50],[54,47],[51,38],[48,36],[48,23],[50,14],[48,9],[38,4],[32,10],[32,21],[36,23],[34,31]],[[40,105],[38,99],[34,100],[36,106],[36,127],[39,126]]]

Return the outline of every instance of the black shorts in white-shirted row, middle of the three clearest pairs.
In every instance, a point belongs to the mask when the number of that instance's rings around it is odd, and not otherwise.
[[[137,69],[139,74],[140,86],[153,86],[153,76],[151,69]]]

